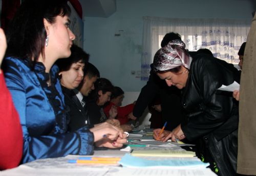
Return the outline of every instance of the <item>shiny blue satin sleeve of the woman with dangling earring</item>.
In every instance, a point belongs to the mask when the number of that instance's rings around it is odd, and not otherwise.
[[[7,65],[8,71],[5,72],[6,84],[11,92],[20,123],[22,124],[24,142],[22,163],[39,158],[63,157],[69,154],[92,154],[94,136],[89,129],[83,128],[75,133],[51,133],[47,135],[36,135],[29,132],[26,121],[26,98],[29,95],[26,94],[19,67],[13,62],[8,62]],[[52,131],[54,131],[56,127],[46,128],[52,128]]]

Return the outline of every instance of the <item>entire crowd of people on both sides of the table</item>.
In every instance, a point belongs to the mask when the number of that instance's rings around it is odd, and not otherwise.
[[[178,33],[167,33],[138,99],[122,107],[124,91],[100,78],[90,55],[73,44],[70,13],[64,0],[27,0],[10,22],[7,39],[0,29],[1,170],[122,147],[123,132],[131,131],[131,120],[149,106],[156,140],[195,143],[218,175],[256,174],[250,123],[255,108],[247,108],[255,97],[255,21],[238,53],[242,71],[207,49],[187,51]],[[218,90],[240,78],[241,91]]]

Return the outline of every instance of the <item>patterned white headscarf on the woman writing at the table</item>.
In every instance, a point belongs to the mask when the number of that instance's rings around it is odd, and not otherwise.
[[[181,40],[172,40],[155,54],[154,71],[165,71],[181,65],[189,69],[191,61],[185,43]]]

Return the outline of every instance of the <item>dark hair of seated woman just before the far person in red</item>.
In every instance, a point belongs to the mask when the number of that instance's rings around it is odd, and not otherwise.
[[[99,78],[95,83],[94,83],[94,90],[89,94],[89,99],[95,99],[96,101],[99,98],[98,92],[101,90],[103,94],[106,92],[113,92],[114,86],[112,83],[105,78]]]

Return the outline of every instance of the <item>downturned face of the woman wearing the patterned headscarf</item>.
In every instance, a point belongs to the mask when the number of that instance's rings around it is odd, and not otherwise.
[[[182,69],[178,73],[167,71],[164,73],[157,73],[157,76],[161,80],[165,80],[168,86],[176,86],[178,89],[183,89],[186,86],[188,71],[182,66]]]

